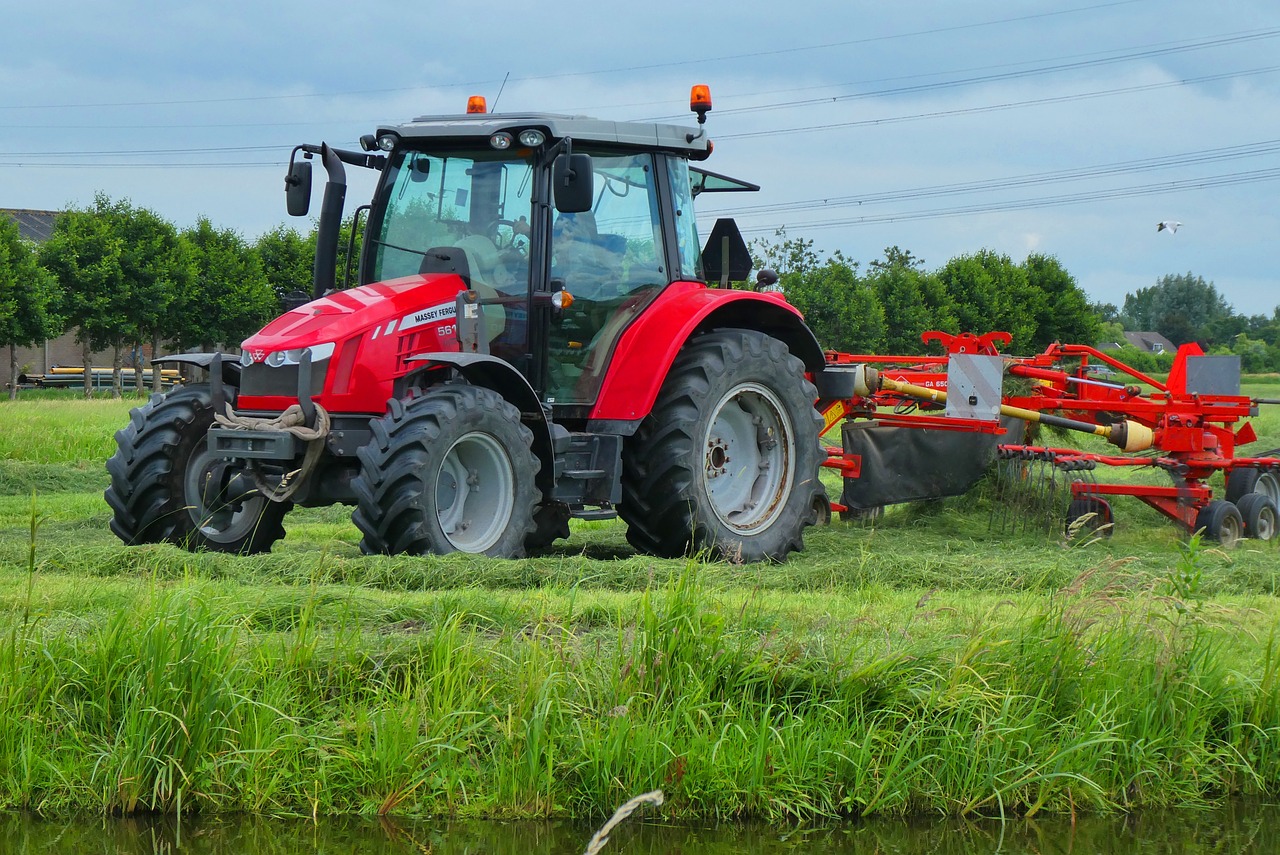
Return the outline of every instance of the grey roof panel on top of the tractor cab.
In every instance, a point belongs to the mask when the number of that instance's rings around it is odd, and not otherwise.
[[[378,134],[393,132],[404,140],[488,140],[499,131],[507,131],[515,136],[525,128],[539,128],[550,140],[571,137],[573,142],[599,142],[682,152],[705,152],[708,143],[707,134],[700,134],[698,128],[650,122],[607,122],[585,115],[556,113],[421,115],[404,124],[380,127]],[[689,137],[696,138],[690,142]]]

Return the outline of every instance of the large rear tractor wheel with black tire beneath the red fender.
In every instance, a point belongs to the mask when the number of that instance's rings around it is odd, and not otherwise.
[[[755,330],[692,339],[623,447],[627,540],[675,558],[782,561],[824,495],[817,393],[787,347]]]

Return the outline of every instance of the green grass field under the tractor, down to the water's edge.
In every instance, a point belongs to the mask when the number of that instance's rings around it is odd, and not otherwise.
[[[813,529],[773,566],[637,555],[618,522],[525,561],[364,557],[342,507],[294,511],[269,555],[127,548],[101,494],[128,407],[0,403],[0,808],[588,817],[662,788],[669,817],[815,817],[1280,791],[1275,543],[1188,544],[1130,499],[1110,540],[1001,532],[979,490]]]

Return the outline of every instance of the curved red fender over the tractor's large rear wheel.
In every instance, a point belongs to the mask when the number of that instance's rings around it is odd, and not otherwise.
[[[593,429],[634,433],[653,410],[685,342],[713,329],[759,330],[783,342],[806,371],[820,371],[824,365],[822,346],[782,294],[676,283],[618,339],[591,410]]]

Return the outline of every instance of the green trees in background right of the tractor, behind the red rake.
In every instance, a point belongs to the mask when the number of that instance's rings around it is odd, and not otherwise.
[[[787,300],[831,349],[913,356],[927,352],[920,334],[928,330],[1004,330],[1012,335],[1010,353],[1030,355],[1053,342],[1116,343],[1119,358],[1135,369],[1167,370],[1174,355],[1133,347],[1124,337],[1132,330],[1235,353],[1244,371],[1280,371],[1280,307],[1271,315],[1236,314],[1213,283],[1190,273],[1161,276],[1117,308],[1091,302],[1057,259],[1041,253],[1015,262],[982,250],[928,270],[923,259],[893,246],[861,270],[842,252],[823,257],[813,241],[783,229],[751,250],[756,266],[780,274]]]

